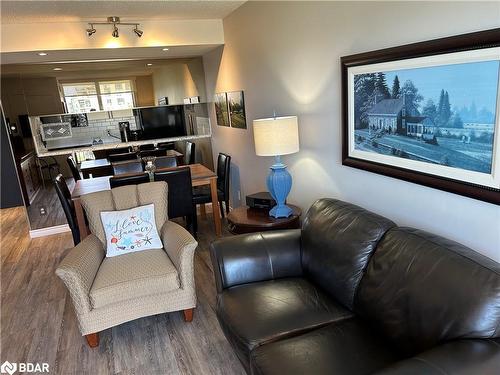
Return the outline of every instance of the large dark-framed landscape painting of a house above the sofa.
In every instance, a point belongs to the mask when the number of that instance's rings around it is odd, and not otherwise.
[[[500,29],[341,64],[344,165],[500,204]]]

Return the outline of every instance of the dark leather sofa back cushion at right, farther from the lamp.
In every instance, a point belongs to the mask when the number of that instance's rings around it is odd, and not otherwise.
[[[372,256],[355,311],[407,354],[500,336],[500,265],[465,246],[394,228]]]

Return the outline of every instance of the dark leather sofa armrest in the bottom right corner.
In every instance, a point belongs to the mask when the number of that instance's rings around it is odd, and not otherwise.
[[[450,341],[377,372],[377,375],[498,374],[500,339]]]

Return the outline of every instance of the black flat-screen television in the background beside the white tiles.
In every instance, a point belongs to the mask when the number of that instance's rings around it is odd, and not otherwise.
[[[182,105],[139,108],[134,112],[142,129],[142,139],[187,135]]]

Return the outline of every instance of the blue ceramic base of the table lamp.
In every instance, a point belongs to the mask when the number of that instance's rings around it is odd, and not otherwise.
[[[292,188],[292,176],[286,170],[286,165],[281,162],[280,156],[276,156],[276,161],[270,169],[267,176],[267,189],[276,201],[276,206],[271,208],[269,216],[288,217],[292,214],[292,209],[285,202]]]

